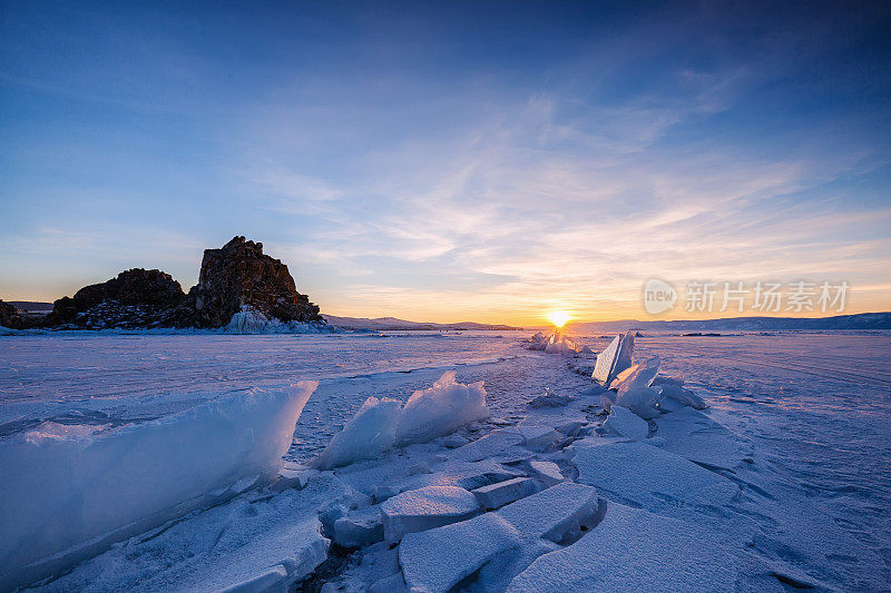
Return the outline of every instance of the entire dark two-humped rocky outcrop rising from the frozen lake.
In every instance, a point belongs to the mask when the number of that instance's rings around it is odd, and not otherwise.
[[[198,285],[188,295],[169,274],[135,268],[106,283],[62,297],[42,323],[49,327],[124,329],[222,327],[243,306],[282,322],[324,324],[319,307],[297,293],[281,260],[263,254],[263,244],[235,237],[204,251]],[[14,313],[14,309],[13,312]],[[6,308],[2,319],[10,317]]]

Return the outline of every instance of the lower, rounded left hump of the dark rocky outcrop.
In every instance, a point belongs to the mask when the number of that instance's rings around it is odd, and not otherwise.
[[[157,269],[134,268],[117,278],[85,286],[53,304],[46,325],[87,329],[186,327],[195,313],[179,283]]]

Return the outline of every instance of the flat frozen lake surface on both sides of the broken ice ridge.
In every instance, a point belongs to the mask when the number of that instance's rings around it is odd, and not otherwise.
[[[314,379],[320,386],[287,453],[306,461],[368,396],[404,401],[449,369],[462,383],[486,382],[492,428],[521,419],[546,388],[572,395],[590,384],[591,359],[527,350],[520,340],[528,335],[0,337],[0,437],[47,421],[141,423],[251,387]],[[599,352],[611,336],[577,337]],[[812,555],[768,537],[752,542],[755,550],[841,589],[891,582],[891,335],[654,334],[637,338],[638,353],[658,354],[664,374],[684,376],[712,418],[753,443],[758,471],[735,476],[744,491],[767,493],[791,515],[806,502],[812,518],[790,525],[754,503],[741,512],[765,531],[801,530],[802,540],[813,540]],[[838,550],[824,550],[832,545]],[[831,565],[813,564],[825,559]]]

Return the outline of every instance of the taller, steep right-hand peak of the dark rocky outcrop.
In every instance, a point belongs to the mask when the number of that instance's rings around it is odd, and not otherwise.
[[[263,254],[263,244],[235,237],[222,249],[206,249],[198,285],[189,290],[198,324],[222,327],[242,306],[282,322],[321,322],[319,307],[297,293],[280,259]]]

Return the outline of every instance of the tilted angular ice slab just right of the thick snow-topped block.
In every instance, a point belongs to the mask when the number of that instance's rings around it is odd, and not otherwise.
[[[513,525],[525,540],[559,543],[598,511],[597,491],[564,482],[511,503],[496,513]]]

